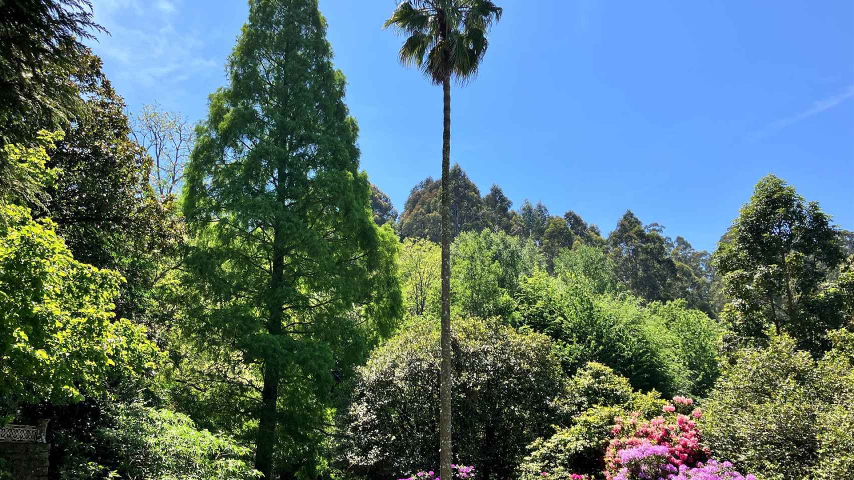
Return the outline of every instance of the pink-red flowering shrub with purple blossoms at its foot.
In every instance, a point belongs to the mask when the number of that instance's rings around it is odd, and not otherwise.
[[[614,438],[605,450],[605,477],[624,480],[635,471],[639,475],[636,478],[654,480],[676,473],[681,466],[690,468],[705,461],[709,452],[700,446],[693,420],[703,413],[699,408],[691,410],[692,405],[691,398],[676,396],[673,403],[664,405],[663,414],[652,420],[640,418],[638,412],[630,413],[627,419],[614,419]]]

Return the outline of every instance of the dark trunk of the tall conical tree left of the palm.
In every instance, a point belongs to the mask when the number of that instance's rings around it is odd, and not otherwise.
[[[281,182],[279,183],[282,184]],[[270,312],[267,332],[271,336],[282,334],[282,304],[278,300],[284,282],[284,252],[282,247],[283,228],[273,233],[272,275],[267,309]],[[255,470],[266,480],[273,478],[272,454],[276,447],[276,425],[278,423],[278,383],[281,373],[277,358],[264,359],[264,389],[261,391],[261,410],[258,421],[258,438],[255,442]]]

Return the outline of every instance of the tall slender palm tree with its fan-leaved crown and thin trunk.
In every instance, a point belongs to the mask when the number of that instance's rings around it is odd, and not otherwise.
[[[418,67],[442,85],[442,387],[440,476],[451,478],[451,219],[448,212],[451,163],[451,78],[465,84],[477,75],[488,47],[487,32],[502,10],[490,0],[402,0],[386,20],[407,40],[401,63]]]

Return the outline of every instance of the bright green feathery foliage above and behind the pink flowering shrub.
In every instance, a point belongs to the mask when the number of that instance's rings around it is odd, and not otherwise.
[[[596,295],[583,277],[522,280],[512,323],[546,333],[564,370],[599,361],[642,390],[700,394],[717,375],[720,330],[684,302],[643,306]]]

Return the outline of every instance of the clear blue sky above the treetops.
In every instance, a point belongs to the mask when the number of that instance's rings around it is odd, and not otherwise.
[[[498,0],[477,80],[452,94],[452,161],[483,194],[572,209],[603,233],[627,208],[713,249],[767,173],[854,229],[854,3]],[[362,168],[402,209],[439,176],[442,91],[401,67],[394,0],[320,0]],[[131,112],[204,117],[241,0],[95,0],[93,49]]]

